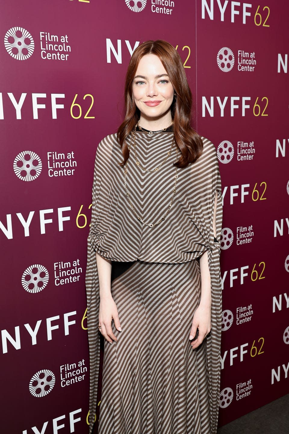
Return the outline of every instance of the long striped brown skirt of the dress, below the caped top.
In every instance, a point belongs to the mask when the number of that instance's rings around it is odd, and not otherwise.
[[[112,261],[122,331],[104,340],[98,434],[210,434],[206,339],[189,334],[200,299],[198,260]]]

